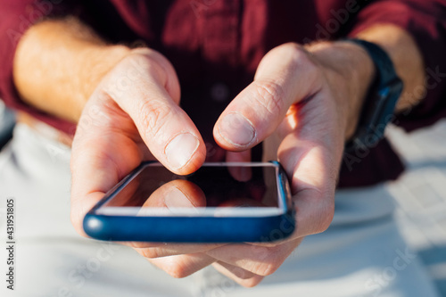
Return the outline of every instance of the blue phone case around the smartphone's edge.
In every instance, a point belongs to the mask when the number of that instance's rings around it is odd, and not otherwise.
[[[146,161],[114,186],[84,218],[87,235],[100,240],[163,243],[241,243],[272,242],[284,239],[294,231],[294,208],[285,170],[277,161],[279,198],[284,214],[270,217],[137,217],[97,214],[152,161]]]

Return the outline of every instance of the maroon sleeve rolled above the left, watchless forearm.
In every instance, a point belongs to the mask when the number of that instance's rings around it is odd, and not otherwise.
[[[12,109],[25,111],[37,120],[73,134],[74,123],[39,111],[21,100],[14,87],[12,64],[17,45],[30,26],[45,18],[74,14],[75,5],[70,0],[1,0],[0,6],[0,98]]]

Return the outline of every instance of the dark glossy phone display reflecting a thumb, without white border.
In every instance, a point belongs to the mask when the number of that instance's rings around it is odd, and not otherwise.
[[[278,207],[274,166],[202,166],[178,176],[159,164],[142,171],[104,207]]]

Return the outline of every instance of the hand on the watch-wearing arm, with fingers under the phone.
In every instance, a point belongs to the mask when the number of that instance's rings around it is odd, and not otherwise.
[[[368,54],[348,43],[307,49],[286,44],[266,54],[252,84],[219,117],[214,137],[221,147],[242,152],[233,153],[241,161],[250,161],[249,150],[265,140],[265,158],[278,158],[291,180],[295,232],[275,243],[227,244],[194,253],[176,250],[178,255],[164,258],[145,256],[157,258],[153,263],[176,277],[213,263],[244,286],[257,285],[276,271],[305,235],[326,230],[333,219],[343,145],[356,128],[373,75]],[[164,248],[169,250],[169,244]]]

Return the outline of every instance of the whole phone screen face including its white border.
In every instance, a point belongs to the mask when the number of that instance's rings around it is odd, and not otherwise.
[[[106,194],[96,214],[123,216],[272,216],[285,197],[272,163],[204,163],[179,176],[147,163]]]

